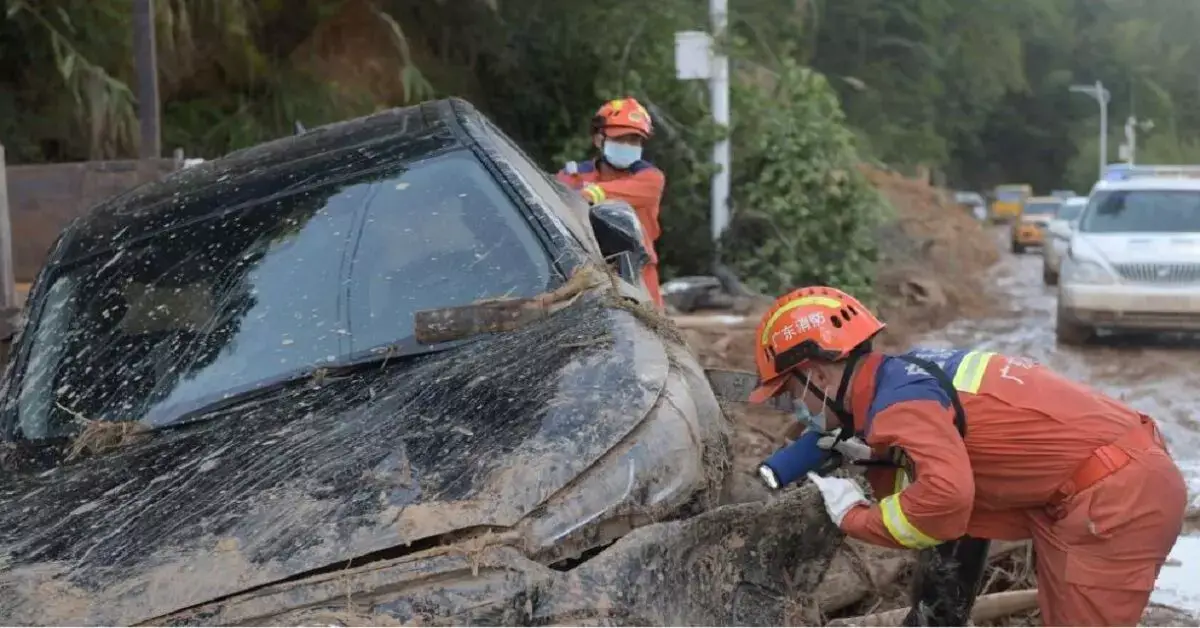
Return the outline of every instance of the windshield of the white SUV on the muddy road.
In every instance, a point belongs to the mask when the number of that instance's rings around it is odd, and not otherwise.
[[[1093,195],[1085,233],[1200,232],[1200,190],[1110,190]]]

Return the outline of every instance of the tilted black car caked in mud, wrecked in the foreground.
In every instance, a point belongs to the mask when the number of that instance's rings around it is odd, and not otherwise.
[[[839,533],[719,507],[640,241],[458,100],[94,208],[4,379],[0,623],[797,621]]]

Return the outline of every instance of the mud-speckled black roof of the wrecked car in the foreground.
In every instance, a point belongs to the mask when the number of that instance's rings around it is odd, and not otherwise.
[[[498,159],[494,148],[485,145],[492,142],[468,131],[480,130],[472,122],[482,118],[467,101],[445,98],[236,150],[100,203],[64,229],[50,261],[86,257],[222,210],[413,159],[474,145]],[[553,213],[581,243],[594,241],[587,221],[564,208],[538,203],[536,209]]]

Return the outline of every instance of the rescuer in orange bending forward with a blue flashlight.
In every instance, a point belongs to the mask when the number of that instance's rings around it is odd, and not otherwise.
[[[810,474],[839,527],[914,549],[1032,537],[1046,626],[1138,624],[1187,507],[1154,421],[1027,358],[875,352],[883,327],[853,297],[808,287],[775,301],[755,337],[751,401],[791,394],[876,462],[911,461],[868,467],[877,503]]]

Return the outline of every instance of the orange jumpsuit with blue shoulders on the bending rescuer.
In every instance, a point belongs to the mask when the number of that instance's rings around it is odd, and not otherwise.
[[[1135,626],[1180,536],[1187,488],[1146,415],[1028,360],[917,349],[953,379],[966,414],[918,366],[883,354],[850,389],[856,431],[880,457],[902,451],[916,478],[872,468],[877,504],[847,536],[929,548],[962,534],[1033,538],[1046,626]],[[895,449],[893,449],[895,448]]]

